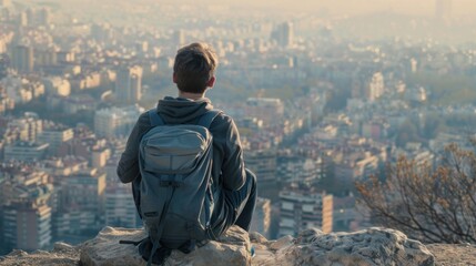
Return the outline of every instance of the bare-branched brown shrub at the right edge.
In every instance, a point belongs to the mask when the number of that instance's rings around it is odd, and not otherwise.
[[[359,203],[375,222],[424,243],[476,243],[476,155],[448,145],[439,165],[405,157],[385,181],[357,182]]]

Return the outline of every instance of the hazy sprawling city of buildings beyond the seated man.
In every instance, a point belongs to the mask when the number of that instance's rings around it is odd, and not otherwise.
[[[219,54],[206,95],[257,176],[251,231],[375,225],[355,182],[401,156],[437,165],[475,136],[476,18],[462,2],[0,0],[0,255],[142,226],[117,165],[139,115],[176,95],[173,59],[194,41]]]

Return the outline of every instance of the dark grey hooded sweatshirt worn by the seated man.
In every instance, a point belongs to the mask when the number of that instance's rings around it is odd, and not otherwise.
[[[166,96],[160,100],[156,106],[159,114],[166,124],[198,123],[199,117],[212,109],[213,105],[206,98],[193,101]],[[150,129],[149,115],[146,112],[142,113],[129,136],[125,151],[118,164],[118,176],[121,182],[134,182],[134,185],[140,183],[139,142]],[[212,190],[216,200],[221,197],[221,193],[217,193],[221,188],[236,191],[242,187],[246,181],[246,174],[240,135],[233,119],[221,113],[210,125],[210,132],[213,135]],[[134,201],[138,204],[136,191],[134,192]],[[215,207],[220,208],[221,206],[215,205]]]

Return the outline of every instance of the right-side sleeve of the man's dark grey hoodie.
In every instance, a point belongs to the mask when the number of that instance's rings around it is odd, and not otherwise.
[[[227,190],[237,191],[246,181],[246,172],[243,160],[243,149],[240,142],[240,133],[232,119],[227,129],[227,140],[222,164],[223,185]]]

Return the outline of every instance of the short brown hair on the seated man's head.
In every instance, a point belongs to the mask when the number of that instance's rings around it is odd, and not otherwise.
[[[176,52],[173,72],[179,90],[203,93],[212,79],[219,60],[212,47],[204,42],[194,42]]]

